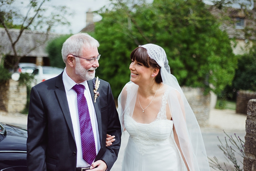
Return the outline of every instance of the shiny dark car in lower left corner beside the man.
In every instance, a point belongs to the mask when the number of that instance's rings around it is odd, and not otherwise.
[[[0,123],[0,171],[27,171],[27,130]]]

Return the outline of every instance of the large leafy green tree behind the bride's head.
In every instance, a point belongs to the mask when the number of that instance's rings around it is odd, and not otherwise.
[[[129,80],[131,51],[155,43],[166,51],[180,85],[220,93],[231,84],[237,58],[230,39],[200,0],[154,0],[153,3],[111,1],[102,9],[94,37],[102,58],[97,74],[110,82],[117,97]]]

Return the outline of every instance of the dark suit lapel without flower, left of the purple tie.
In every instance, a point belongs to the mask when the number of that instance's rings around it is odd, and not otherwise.
[[[67,95],[66,95],[65,87],[63,84],[63,80],[62,80],[62,73],[60,75],[58,75],[58,77],[56,79],[55,86],[57,87],[57,89],[55,90],[55,93],[56,93],[57,99],[59,101],[59,105],[61,107],[63,115],[66,119],[68,128],[70,129],[72,137],[75,140],[72,120],[71,120],[71,116],[70,116],[70,110],[69,110],[68,103],[67,103]]]

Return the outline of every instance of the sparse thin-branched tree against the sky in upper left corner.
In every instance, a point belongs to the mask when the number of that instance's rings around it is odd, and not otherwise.
[[[68,14],[67,8],[65,6],[52,6],[53,10],[49,11],[49,6],[44,7],[44,4],[48,1],[50,0],[25,0],[24,2],[18,0],[0,0],[0,26],[5,29],[11,42],[14,56],[9,65],[15,71],[17,70],[20,58],[47,42],[49,32],[54,26],[70,24],[64,17]],[[18,4],[20,9],[14,7],[15,3]],[[23,14],[24,11],[21,9],[26,9],[26,12]],[[20,30],[17,37],[12,37],[9,31],[11,28]],[[35,43],[25,55],[20,56],[18,55],[16,44],[25,29],[44,32],[45,38],[44,41]]]

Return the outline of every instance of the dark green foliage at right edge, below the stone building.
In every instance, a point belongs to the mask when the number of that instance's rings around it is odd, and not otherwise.
[[[239,56],[232,85],[227,86],[224,93],[234,100],[239,90],[256,91],[256,46],[253,46],[249,53]]]

